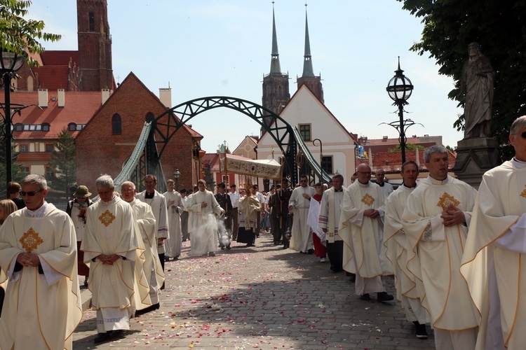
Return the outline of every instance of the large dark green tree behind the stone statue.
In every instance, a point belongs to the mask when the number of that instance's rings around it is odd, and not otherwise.
[[[508,144],[513,120],[526,114],[526,1],[525,0],[397,0],[403,8],[422,18],[422,38],[411,50],[429,54],[440,66],[439,73],[457,85],[448,94],[457,97],[468,44],[477,42],[496,72],[494,80],[492,133],[499,144]],[[461,104],[459,104],[461,106]],[[459,116],[453,127],[464,127]],[[513,155],[502,148],[504,159]]]

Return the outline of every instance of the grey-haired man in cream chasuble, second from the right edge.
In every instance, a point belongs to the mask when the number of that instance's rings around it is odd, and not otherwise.
[[[446,148],[427,148],[424,162],[429,176],[402,216],[407,269],[423,283],[417,297],[431,315],[436,349],[474,349],[480,315],[459,268],[477,191],[447,175]]]

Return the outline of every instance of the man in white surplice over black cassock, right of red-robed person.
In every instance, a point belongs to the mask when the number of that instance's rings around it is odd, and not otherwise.
[[[325,190],[321,197],[320,216],[318,217],[318,226],[325,233],[327,256],[333,272],[343,271],[344,241],[339,237],[338,232],[344,194],[347,191],[343,185],[344,176],[342,174],[332,176],[332,187]]]

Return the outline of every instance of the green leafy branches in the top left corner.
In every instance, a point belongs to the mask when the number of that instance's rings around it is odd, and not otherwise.
[[[27,20],[24,17],[32,1],[0,0],[0,49],[15,52],[18,55],[26,49],[29,53],[41,53],[44,48],[41,41],[58,41],[60,34],[50,34],[44,29],[41,20]],[[38,66],[32,57],[27,58],[31,66]]]

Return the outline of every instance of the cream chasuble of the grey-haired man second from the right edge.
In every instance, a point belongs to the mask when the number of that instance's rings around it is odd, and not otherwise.
[[[477,191],[448,176],[427,177],[407,198],[402,221],[407,237],[407,269],[423,283],[417,297],[431,315],[431,326],[466,330],[478,325],[478,312],[459,267],[466,244],[466,225],[445,227],[442,212],[449,205],[471,218]]]

